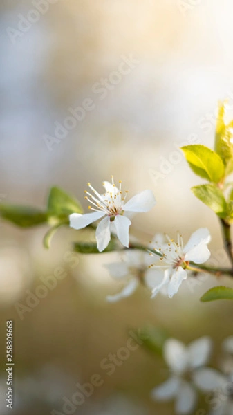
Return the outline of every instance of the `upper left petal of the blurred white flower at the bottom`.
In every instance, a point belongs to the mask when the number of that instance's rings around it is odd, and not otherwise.
[[[165,342],[163,354],[167,365],[175,373],[183,373],[188,365],[187,347],[176,339],[168,339]]]

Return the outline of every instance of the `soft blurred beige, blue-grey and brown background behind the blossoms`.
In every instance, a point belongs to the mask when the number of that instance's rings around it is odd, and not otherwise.
[[[44,208],[58,185],[86,209],[86,183],[101,190],[113,174],[129,196],[145,189],[156,196],[156,207],[133,219],[134,237],[147,243],[156,232],[180,230],[187,241],[206,226],[212,263],[227,266],[214,213],[190,192],[201,181],[178,147],[214,147],[218,100],[228,99],[233,116],[232,1],[3,0],[0,10],[1,202]],[[232,302],[199,297],[219,282],[183,284],[172,300],[152,300],[140,288],[108,304],[121,285],[103,264],[116,255],[72,256],[82,232],[68,228],[46,250],[46,230],[1,223],[1,413],[8,413],[5,337],[13,320],[14,414],[64,413],[64,396],[93,374],[101,387],[70,414],[172,414],[172,404],[149,398],[168,375],[159,356],[138,347],[111,376],[100,363],[125,347],[132,327],[151,324],[184,342],[211,335],[215,365],[232,335]],[[28,291],[57,267],[64,277],[20,318],[19,303],[25,307]]]

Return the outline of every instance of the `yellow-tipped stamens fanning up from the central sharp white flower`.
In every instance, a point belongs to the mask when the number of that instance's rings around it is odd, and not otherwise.
[[[119,189],[115,186],[115,183],[113,181],[113,176],[111,176],[111,181],[113,187],[115,187],[115,192],[109,192],[107,191],[103,195],[98,193],[94,187],[91,186],[91,183],[87,183],[88,187],[92,190],[93,194],[85,190],[85,193],[88,196],[85,196],[85,199],[91,203],[91,205],[88,206],[88,209],[95,210],[97,212],[103,211],[108,216],[116,216],[118,214],[123,214],[123,205],[124,201],[127,198],[127,191],[125,191],[125,195],[122,198],[122,181],[120,180],[120,186]],[[105,183],[103,183],[105,185]]]

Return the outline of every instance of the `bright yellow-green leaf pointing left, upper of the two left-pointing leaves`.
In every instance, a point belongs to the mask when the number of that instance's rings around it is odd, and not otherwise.
[[[219,183],[225,174],[221,157],[205,145],[185,145],[181,147],[189,166],[197,176]]]

